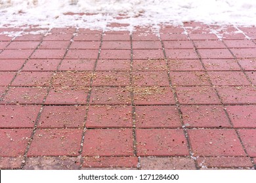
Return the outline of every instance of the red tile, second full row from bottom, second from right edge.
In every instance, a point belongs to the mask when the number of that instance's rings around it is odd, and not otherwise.
[[[182,105],[186,127],[231,127],[224,108],[218,105]]]

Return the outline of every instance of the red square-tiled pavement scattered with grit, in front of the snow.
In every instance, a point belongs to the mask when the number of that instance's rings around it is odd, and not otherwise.
[[[0,35],[0,168],[255,169],[256,27],[219,28]]]

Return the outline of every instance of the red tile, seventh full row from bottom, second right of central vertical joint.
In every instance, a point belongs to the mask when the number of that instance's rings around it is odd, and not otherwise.
[[[192,41],[163,41],[165,49],[188,49],[194,48]]]

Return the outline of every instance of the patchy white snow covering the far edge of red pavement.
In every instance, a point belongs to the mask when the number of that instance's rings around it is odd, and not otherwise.
[[[74,12],[75,14],[67,14]],[[81,14],[78,14],[81,13]],[[122,18],[120,18],[120,15]],[[196,21],[218,25],[256,25],[254,0],[0,0],[0,27],[84,27],[119,29]],[[113,29],[113,28],[111,28]]]

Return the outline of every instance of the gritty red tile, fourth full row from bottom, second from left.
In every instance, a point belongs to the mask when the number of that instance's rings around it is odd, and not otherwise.
[[[49,86],[52,72],[20,72],[11,86]]]

